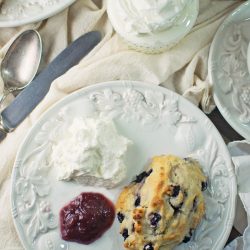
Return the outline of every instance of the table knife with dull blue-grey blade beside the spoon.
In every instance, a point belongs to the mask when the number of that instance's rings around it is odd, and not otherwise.
[[[47,94],[53,80],[87,55],[101,40],[99,31],[91,31],[65,48],[0,115],[0,142],[13,131]]]

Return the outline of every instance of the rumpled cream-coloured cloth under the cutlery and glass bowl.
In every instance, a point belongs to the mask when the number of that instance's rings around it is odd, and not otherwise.
[[[32,114],[0,143],[0,249],[22,249],[11,217],[10,175],[20,142],[30,127],[53,103],[69,93],[98,82],[131,79],[161,84],[174,90],[205,112],[214,108],[207,81],[207,59],[214,34],[228,13],[241,1],[200,0],[196,26],[176,47],[147,55],[128,49],[113,31],[105,2],[78,0],[69,9],[37,24],[0,29],[0,58],[22,30],[36,28],[44,44],[45,65],[66,45],[90,30],[101,30],[103,39],[77,66],[55,80]],[[0,82],[0,92],[3,84]],[[11,97],[9,97],[10,101]]]

